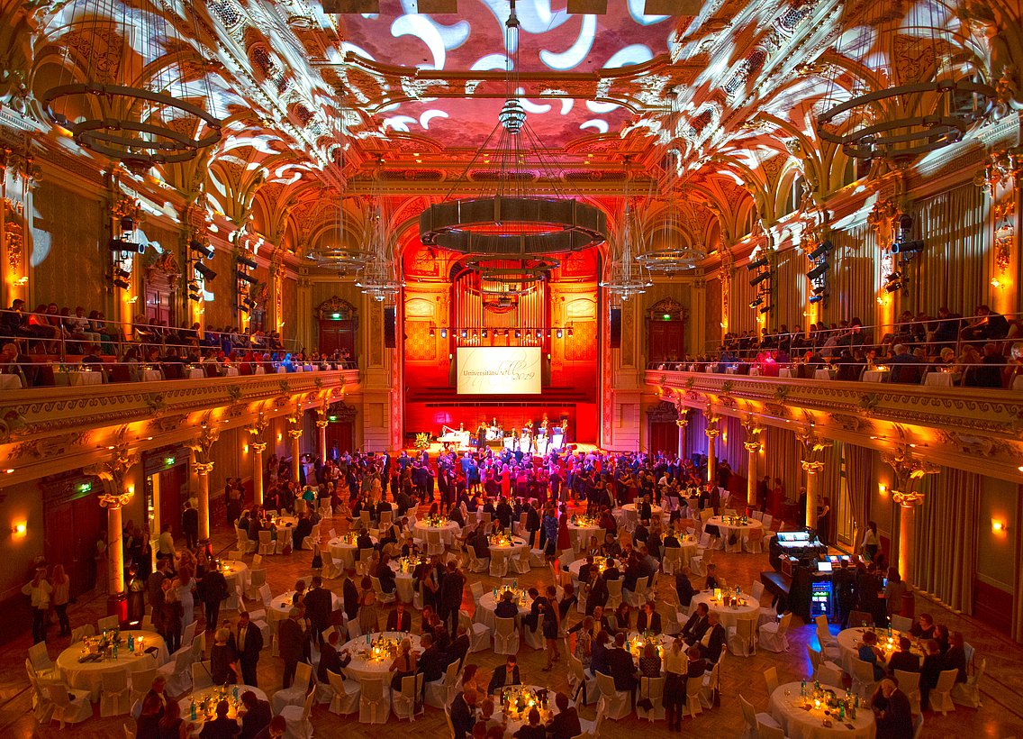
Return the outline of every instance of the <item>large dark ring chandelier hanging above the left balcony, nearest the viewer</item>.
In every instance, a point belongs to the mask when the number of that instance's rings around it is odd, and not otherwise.
[[[65,58],[41,103],[82,148],[144,171],[192,160],[220,140],[211,79],[221,64],[198,41],[190,3],[58,7],[47,36],[65,39]]]

